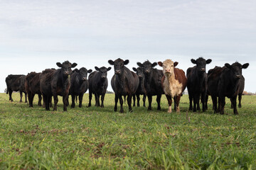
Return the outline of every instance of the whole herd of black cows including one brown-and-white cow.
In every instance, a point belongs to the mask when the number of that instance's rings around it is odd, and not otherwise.
[[[151,63],[148,60],[144,63],[137,62],[138,67],[132,68],[136,73],[125,67],[129,60],[120,58],[114,61],[109,60],[108,63],[114,65],[114,75],[111,79],[114,91],[114,111],[117,111],[118,100],[121,113],[124,112],[123,102],[125,100],[127,100],[129,111],[132,111],[132,97],[134,99],[133,106],[135,106],[136,97],[137,106],[139,106],[140,95],[143,95],[143,106],[145,106],[146,97],[148,98],[149,110],[151,110],[152,96],[156,96],[157,110],[161,110],[161,96],[165,94],[169,103],[168,112],[171,113],[172,98],[174,98],[174,110],[179,112],[179,101],[187,87],[190,111],[200,111],[200,98],[203,111],[206,111],[208,95],[210,95],[215,113],[224,114],[225,97],[228,97],[232,103],[234,114],[238,114],[237,96],[238,106],[241,107],[241,96],[245,86],[242,69],[246,69],[249,64],[235,62],[230,65],[226,63],[223,67],[210,69],[206,74],[206,64],[211,61],[210,59],[205,60],[203,57],[199,57],[197,60],[192,59],[191,62],[196,65],[188,68],[185,75],[182,69],[176,68],[178,62],[171,60],[158,63]],[[6,77],[6,94],[9,94],[9,101],[13,101],[11,98],[13,91],[20,91],[21,101],[22,93],[28,94],[29,107],[33,107],[33,98],[38,94],[38,105],[42,106],[41,96],[43,96],[43,107],[49,111],[53,96],[53,111],[56,111],[58,96],[63,96],[63,111],[67,111],[68,96],[72,96],[71,108],[75,107],[76,98],[79,98],[79,107],[81,107],[83,94],[89,89],[88,107],[91,106],[92,94],[95,94],[95,106],[104,108],[108,84],[107,72],[111,67],[95,67],[95,72],[84,67],[72,71],[72,68],[77,66],[76,63],[71,64],[65,61],[62,64],[60,62],[56,64],[60,69],[45,69],[41,73],[31,72],[26,76],[10,74]],[[155,69],[157,64],[163,69]],[[90,75],[87,79],[88,73]]]

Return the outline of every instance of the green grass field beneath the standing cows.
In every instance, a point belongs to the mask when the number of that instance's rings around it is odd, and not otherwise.
[[[133,113],[114,113],[113,94],[105,108],[86,108],[85,94],[68,112],[60,97],[55,112],[18,98],[0,94],[0,169],[256,169],[256,96],[242,97],[239,115],[229,100],[225,115],[188,112],[186,95],[181,113],[167,113],[165,96],[162,111],[154,98]]]

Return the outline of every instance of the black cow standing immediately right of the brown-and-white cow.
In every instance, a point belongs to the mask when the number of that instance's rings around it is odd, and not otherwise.
[[[187,79],[188,79],[188,96],[189,96],[189,111],[192,111],[192,101],[193,101],[193,112],[196,110],[200,111],[200,96],[201,102],[203,103],[203,112],[206,111],[206,92],[207,92],[207,74],[206,74],[206,64],[210,64],[212,60],[205,60],[199,57],[197,60],[191,59],[195,67],[190,67],[187,69]]]

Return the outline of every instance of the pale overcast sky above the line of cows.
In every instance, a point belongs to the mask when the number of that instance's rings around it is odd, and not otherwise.
[[[95,70],[118,57],[129,69],[171,59],[185,72],[198,57],[213,60],[207,69],[249,62],[245,91],[256,92],[256,1],[0,0],[0,57],[0,92],[8,74],[65,60]]]

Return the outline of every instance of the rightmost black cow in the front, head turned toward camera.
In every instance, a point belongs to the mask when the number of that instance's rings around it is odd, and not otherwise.
[[[240,64],[235,62],[232,65],[226,63],[225,67],[215,67],[208,75],[208,92],[213,100],[215,113],[224,114],[225,96],[233,103],[233,113],[238,114],[236,98],[240,93],[240,79],[242,79],[242,69],[246,69],[249,63]],[[218,108],[217,108],[218,97]]]

